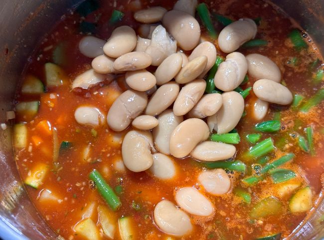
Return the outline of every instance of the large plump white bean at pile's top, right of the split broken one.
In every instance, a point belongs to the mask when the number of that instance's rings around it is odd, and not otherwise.
[[[191,50],[198,44],[200,26],[190,14],[171,10],[164,14],[162,23],[183,50]]]

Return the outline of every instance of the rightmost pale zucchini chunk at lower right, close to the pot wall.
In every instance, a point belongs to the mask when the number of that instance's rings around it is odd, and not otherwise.
[[[302,213],[312,208],[313,194],[309,186],[298,190],[298,192],[290,199],[289,209],[292,213]]]

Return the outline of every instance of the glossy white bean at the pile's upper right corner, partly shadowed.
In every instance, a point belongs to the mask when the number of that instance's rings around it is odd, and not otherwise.
[[[252,19],[241,18],[221,30],[218,46],[225,53],[233,52],[246,41],[253,39],[257,31],[257,24]]]

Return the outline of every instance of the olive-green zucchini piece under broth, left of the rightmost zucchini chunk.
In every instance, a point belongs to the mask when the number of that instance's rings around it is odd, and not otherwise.
[[[265,218],[271,215],[278,215],[282,210],[282,205],[280,201],[275,197],[268,197],[262,199],[259,203],[257,203],[251,213],[250,217],[252,219]]]

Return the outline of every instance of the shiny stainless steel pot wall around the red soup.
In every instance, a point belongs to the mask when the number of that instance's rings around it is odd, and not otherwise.
[[[0,1],[0,123],[12,109],[15,86],[39,39],[81,0]],[[245,2],[246,0],[241,0]],[[273,0],[306,29],[324,54],[324,1]],[[10,125],[10,123],[9,123]],[[57,239],[29,201],[16,170],[11,132],[0,129],[0,237],[4,240]],[[320,217],[323,197],[313,214],[292,234],[292,240],[324,239]]]

